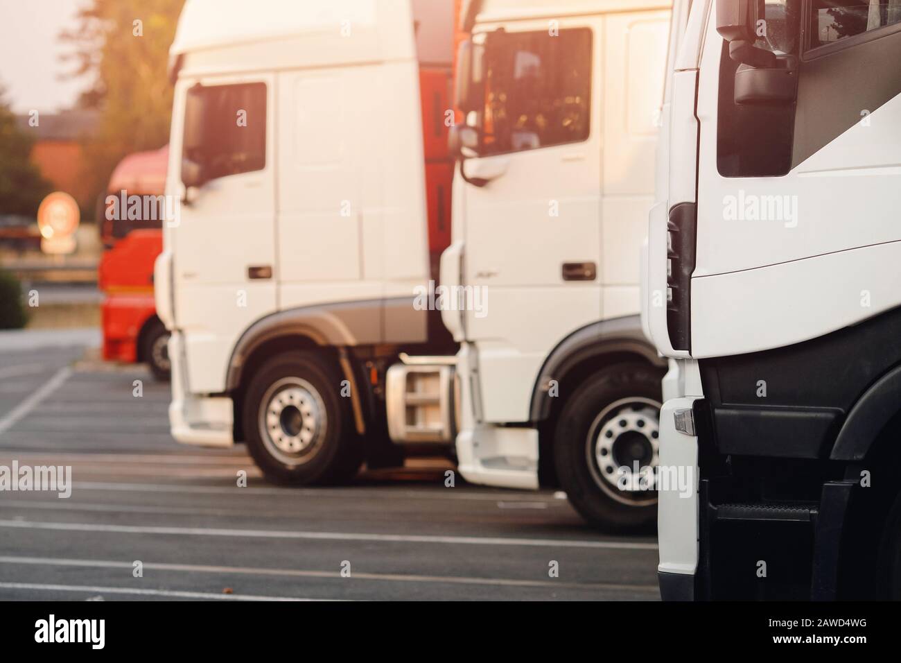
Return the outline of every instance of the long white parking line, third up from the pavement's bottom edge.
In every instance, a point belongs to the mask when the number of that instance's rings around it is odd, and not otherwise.
[[[56,531],[107,532],[113,534],[162,534],[170,536],[236,537],[241,539],[311,539],[323,541],[379,541],[383,543],[440,543],[463,546],[528,546],[540,548],[599,548],[656,550],[654,543],[625,541],[580,541],[578,539],[516,539],[511,537],[439,537],[426,534],[369,534],[365,532],[311,532],[285,529],[225,529],[205,527],[152,527],[81,522],[36,522],[0,520],[0,528],[50,529]]]

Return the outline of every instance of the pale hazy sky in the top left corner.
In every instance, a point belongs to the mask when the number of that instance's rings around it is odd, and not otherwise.
[[[59,76],[74,67],[59,32],[74,27],[85,0],[0,0],[0,85],[15,113],[55,112],[75,103],[84,79]]]

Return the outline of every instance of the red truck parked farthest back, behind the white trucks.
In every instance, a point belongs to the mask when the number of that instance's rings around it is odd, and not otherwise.
[[[97,275],[105,294],[103,357],[146,363],[159,380],[168,380],[170,371],[168,331],[153,302],[153,263],[163,242],[159,207],[153,206],[150,214],[127,214],[120,201],[162,196],[167,163],[168,146],[125,157],[113,171],[98,206],[105,245]]]

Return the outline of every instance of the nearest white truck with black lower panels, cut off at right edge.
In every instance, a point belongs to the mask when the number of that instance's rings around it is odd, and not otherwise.
[[[901,2],[694,0],[677,41],[661,594],[901,598]]]

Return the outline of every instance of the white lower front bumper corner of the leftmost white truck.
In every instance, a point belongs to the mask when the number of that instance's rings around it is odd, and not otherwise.
[[[177,442],[197,447],[232,447],[233,403],[228,396],[192,394],[187,390],[184,343],[180,333],[169,338],[172,401],[169,430]]]

